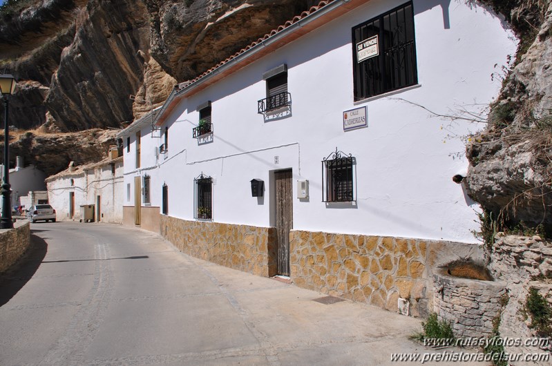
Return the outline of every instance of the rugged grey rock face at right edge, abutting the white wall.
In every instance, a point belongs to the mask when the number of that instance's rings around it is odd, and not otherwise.
[[[494,218],[502,213],[514,224],[551,224],[552,6],[550,0],[531,2],[534,8],[515,3],[511,19],[532,22],[538,31],[532,35],[513,21],[520,48],[530,46],[506,77],[489,127],[467,147],[466,189]]]

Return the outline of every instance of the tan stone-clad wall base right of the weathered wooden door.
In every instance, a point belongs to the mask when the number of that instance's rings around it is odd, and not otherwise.
[[[291,278],[307,289],[410,314],[428,313],[428,245],[415,239],[310,231],[290,234]]]

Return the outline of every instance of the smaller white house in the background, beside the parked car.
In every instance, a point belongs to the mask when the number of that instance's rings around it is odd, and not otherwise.
[[[46,184],[57,220],[122,222],[123,157],[117,156],[116,148],[101,162],[85,166],[71,162],[65,171],[48,177]]]

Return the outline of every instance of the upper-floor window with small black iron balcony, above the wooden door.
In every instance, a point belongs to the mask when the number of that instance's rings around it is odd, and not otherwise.
[[[283,64],[263,74],[267,81],[267,97],[257,102],[258,113],[276,110],[291,103],[291,95],[287,92],[287,65]]]

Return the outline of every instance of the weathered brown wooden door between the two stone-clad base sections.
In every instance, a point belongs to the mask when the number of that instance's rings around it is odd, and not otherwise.
[[[293,229],[292,171],[277,171],[276,180],[276,240],[278,274],[289,276],[289,231]]]

